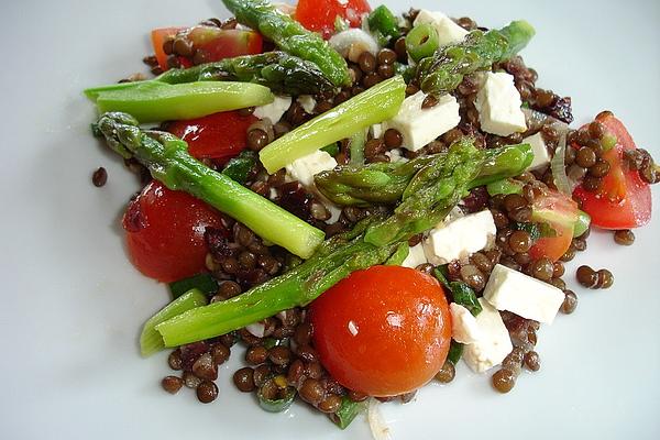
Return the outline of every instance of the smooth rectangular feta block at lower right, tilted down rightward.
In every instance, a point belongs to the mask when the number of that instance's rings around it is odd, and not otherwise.
[[[508,310],[522,318],[552,323],[564,300],[564,294],[548,283],[497,264],[484,288],[484,298],[497,310]]]

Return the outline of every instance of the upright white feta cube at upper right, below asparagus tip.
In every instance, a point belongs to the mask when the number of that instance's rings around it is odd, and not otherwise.
[[[488,72],[474,106],[483,131],[508,136],[527,130],[525,113],[520,109],[520,94],[514,85],[514,77],[507,73]]]

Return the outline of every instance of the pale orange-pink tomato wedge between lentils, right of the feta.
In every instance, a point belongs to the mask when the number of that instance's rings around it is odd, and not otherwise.
[[[532,221],[546,222],[554,230],[556,237],[542,237],[529,250],[534,258],[546,256],[559,260],[571,245],[573,229],[578,221],[578,204],[562,193],[549,190],[537,197],[532,205]]]

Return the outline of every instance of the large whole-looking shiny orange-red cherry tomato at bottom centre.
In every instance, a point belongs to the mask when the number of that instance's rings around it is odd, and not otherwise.
[[[451,340],[442,287],[408,267],[354,272],[311,304],[310,319],[322,365],[370,396],[396,396],[429,382]]]

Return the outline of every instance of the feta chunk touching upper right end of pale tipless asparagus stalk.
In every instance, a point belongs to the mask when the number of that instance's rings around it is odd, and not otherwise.
[[[459,102],[451,95],[439,98],[438,105],[422,109],[424,91],[404,100],[396,117],[383,123],[383,130],[396,129],[404,138],[403,147],[417,151],[441,134],[447,133],[461,121]]]

